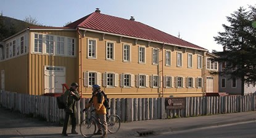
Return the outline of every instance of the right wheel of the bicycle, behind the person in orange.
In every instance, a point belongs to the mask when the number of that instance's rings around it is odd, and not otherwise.
[[[115,133],[120,129],[121,119],[118,115],[109,115],[107,117],[107,130],[110,133]]]

